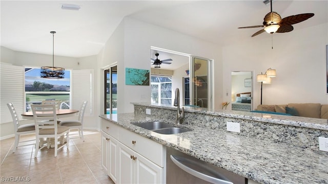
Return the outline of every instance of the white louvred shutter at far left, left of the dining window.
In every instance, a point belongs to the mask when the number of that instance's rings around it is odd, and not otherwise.
[[[24,110],[24,67],[0,63],[0,124],[12,122],[7,103],[12,102],[17,114]],[[22,119],[22,117],[20,117]]]

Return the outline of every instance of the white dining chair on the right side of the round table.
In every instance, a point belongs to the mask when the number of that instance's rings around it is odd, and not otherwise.
[[[84,119],[84,112],[86,111],[88,101],[83,101],[80,110],[78,112],[77,120],[65,120],[59,123],[60,126],[68,126],[70,129],[77,129],[78,135],[82,140],[83,138],[83,119]]]

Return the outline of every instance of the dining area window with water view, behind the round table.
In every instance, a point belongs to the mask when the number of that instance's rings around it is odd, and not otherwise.
[[[64,79],[40,78],[40,68],[25,68],[25,111],[31,104],[41,104],[44,100],[60,101],[59,108],[70,108],[70,71],[65,71]]]

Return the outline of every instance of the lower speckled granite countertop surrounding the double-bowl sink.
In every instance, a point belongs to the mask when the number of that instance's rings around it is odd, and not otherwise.
[[[192,131],[159,134],[131,124],[154,120],[134,113],[104,114],[99,117],[260,183],[328,183],[327,152],[191,125],[181,126]]]

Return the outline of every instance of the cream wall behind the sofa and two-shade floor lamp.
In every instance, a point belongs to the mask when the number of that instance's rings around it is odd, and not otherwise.
[[[273,38],[273,49],[271,43]],[[231,71],[254,71],[253,107],[260,104],[260,82],[256,75],[276,69],[272,84],[263,84],[262,104],[321,103],[326,95],[325,45],[327,24],[289,33],[262,33],[247,42],[222,48],[223,91],[229,90]],[[227,98],[231,99],[231,97]]]

